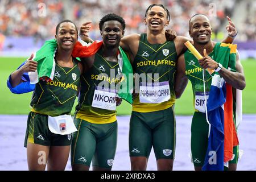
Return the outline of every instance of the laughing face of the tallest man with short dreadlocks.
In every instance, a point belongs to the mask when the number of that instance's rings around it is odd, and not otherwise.
[[[160,6],[151,7],[147,12],[144,21],[152,31],[162,31],[164,26],[168,26],[169,24],[169,20],[167,20],[167,12]]]

